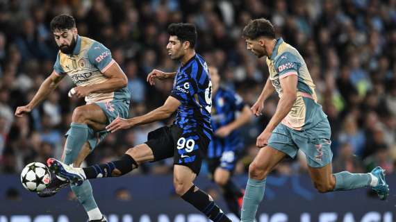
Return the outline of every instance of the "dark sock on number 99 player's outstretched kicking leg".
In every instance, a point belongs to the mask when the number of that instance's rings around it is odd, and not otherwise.
[[[87,179],[107,178],[122,176],[138,168],[138,163],[128,154],[124,154],[119,160],[106,162],[105,164],[95,164],[91,167],[83,168]],[[115,170],[118,170],[115,172]]]

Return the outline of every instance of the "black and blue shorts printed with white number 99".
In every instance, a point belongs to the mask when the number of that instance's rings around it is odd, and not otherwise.
[[[154,161],[173,157],[174,164],[190,168],[197,175],[211,139],[202,131],[183,132],[179,126],[163,126],[147,136],[147,146],[154,154]]]

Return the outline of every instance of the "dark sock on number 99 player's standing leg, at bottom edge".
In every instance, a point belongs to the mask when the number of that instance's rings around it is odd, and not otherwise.
[[[198,187],[195,187],[195,185],[192,185],[181,198],[193,205],[197,210],[208,216],[208,219],[214,222],[231,222],[224,212],[217,207],[213,198],[204,191],[201,191]]]

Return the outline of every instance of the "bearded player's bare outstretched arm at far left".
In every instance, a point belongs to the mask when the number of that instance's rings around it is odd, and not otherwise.
[[[64,75],[58,75],[56,74],[56,71],[52,71],[51,75],[41,83],[38,92],[36,92],[35,96],[33,96],[33,99],[30,101],[30,103],[28,103],[28,105],[17,107],[17,110],[15,110],[15,116],[22,117],[25,113],[31,112],[31,110],[33,110],[33,108],[35,108],[38,103],[47,98],[53,89],[58,86],[60,80],[62,80],[63,77]]]

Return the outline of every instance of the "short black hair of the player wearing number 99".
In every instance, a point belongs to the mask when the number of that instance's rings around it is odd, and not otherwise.
[[[190,42],[190,48],[194,49],[197,42],[197,28],[190,23],[172,23],[167,27],[169,35],[176,35],[181,42]]]

